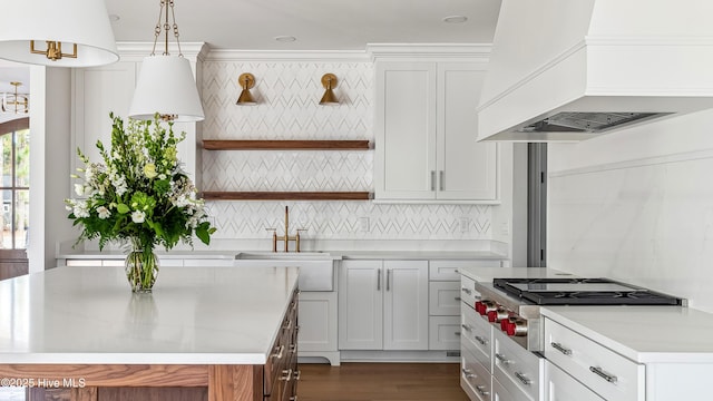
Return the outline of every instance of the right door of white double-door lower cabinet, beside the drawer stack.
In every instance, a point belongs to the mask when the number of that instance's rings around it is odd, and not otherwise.
[[[428,350],[428,261],[384,261],[383,267],[384,350]]]

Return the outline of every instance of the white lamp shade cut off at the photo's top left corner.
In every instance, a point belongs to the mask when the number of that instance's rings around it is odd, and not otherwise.
[[[56,61],[30,52],[46,41],[59,41],[62,52],[77,58]],[[0,58],[51,67],[92,67],[119,60],[114,31],[104,0],[13,0],[3,1],[0,12]]]

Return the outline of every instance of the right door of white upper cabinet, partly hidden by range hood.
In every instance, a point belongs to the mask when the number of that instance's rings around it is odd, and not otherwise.
[[[497,145],[477,143],[485,68],[477,63],[438,65],[439,199],[492,200],[497,195]]]

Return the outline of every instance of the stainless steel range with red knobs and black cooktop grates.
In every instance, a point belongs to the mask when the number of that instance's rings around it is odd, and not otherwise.
[[[543,305],[685,305],[685,300],[608,278],[495,278],[476,283],[476,311],[529,351],[541,351]]]

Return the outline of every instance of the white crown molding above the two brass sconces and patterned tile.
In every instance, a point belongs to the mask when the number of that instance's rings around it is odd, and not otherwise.
[[[321,61],[321,62],[368,62],[364,50],[228,50],[211,49],[205,61]]]

